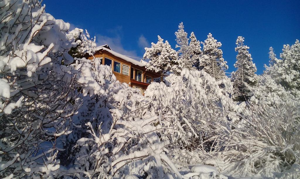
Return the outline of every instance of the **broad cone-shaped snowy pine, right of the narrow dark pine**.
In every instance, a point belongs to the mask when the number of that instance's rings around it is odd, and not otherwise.
[[[201,43],[203,44],[203,51],[200,70],[204,70],[216,80],[225,78],[225,70],[228,69],[228,65],[226,65],[227,62],[224,61],[223,52],[220,49],[221,42],[217,42],[209,33],[207,39]]]

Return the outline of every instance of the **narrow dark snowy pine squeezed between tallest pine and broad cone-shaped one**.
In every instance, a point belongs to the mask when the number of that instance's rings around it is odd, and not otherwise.
[[[201,46],[200,41],[197,40],[194,32],[190,33],[190,54],[191,54],[191,62],[193,63],[193,67],[197,70],[200,69],[200,61],[201,57]]]

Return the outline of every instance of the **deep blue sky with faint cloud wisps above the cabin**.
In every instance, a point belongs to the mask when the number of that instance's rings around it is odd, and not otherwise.
[[[268,64],[269,47],[277,57],[283,44],[300,39],[300,1],[58,1],[44,0],[46,12],[71,27],[87,29],[97,44],[119,53],[143,57],[144,47],[160,35],[175,49],[175,31],[204,41],[208,33],[222,43],[223,57],[234,71],[237,36],[245,38],[257,67]]]

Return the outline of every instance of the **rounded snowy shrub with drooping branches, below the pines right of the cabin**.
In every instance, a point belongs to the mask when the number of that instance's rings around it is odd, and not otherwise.
[[[198,147],[207,151],[213,150],[213,143],[205,143],[204,146],[203,141],[214,135],[220,126],[226,126],[238,119],[232,113],[235,105],[229,94],[219,87],[220,81],[216,81],[203,70],[183,69],[178,78],[180,80],[169,84],[169,87],[164,83],[149,85],[145,96],[153,100],[151,111],[155,111],[158,116],[169,116],[161,118],[159,124],[170,138],[172,148],[179,151]],[[231,85],[230,82],[225,84]],[[221,125],[222,123],[224,124]],[[229,125],[227,127],[230,129]]]

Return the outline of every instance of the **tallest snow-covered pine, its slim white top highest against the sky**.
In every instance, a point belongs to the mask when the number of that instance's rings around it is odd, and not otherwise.
[[[178,61],[173,68],[176,74],[180,74],[183,68],[192,69],[193,61],[191,60],[191,50],[189,47],[189,39],[187,38],[187,33],[184,31],[184,25],[181,22],[178,26],[178,30],[175,32],[176,35],[176,48],[179,48],[177,51],[179,58]]]

